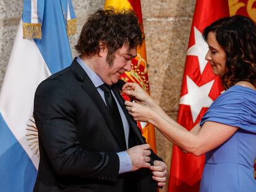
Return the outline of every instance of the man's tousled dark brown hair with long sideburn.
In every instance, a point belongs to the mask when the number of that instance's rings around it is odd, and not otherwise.
[[[114,52],[127,44],[129,49],[142,46],[145,39],[139,19],[133,10],[97,10],[83,25],[75,45],[79,54],[93,56],[100,52],[99,43],[108,48],[107,61],[113,64]]]

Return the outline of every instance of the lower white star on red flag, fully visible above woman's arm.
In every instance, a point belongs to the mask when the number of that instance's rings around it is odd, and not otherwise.
[[[194,81],[187,76],[187,91],[188,93],[181,97],[180,104],[190,106],[193,122],[197,119],[203,107],[210,107],[213,100],[208,96],[213,86],[214,80],[205,83],[205,85],[197,86]]]

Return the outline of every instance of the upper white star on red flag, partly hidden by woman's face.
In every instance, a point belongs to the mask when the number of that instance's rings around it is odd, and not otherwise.
[[[202,74],[208,62],[205,60],[205,56],[208,51],[208,44],[205,43],[205,40],[203,40],[202,33],[200,33],[200,31],[198,31],[196,27],[194,27],[194,33],[195,44],[187,50],[187,56],[197,56],[200,72]]]

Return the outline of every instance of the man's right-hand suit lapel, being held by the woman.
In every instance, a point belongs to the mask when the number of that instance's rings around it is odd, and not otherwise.
[[[118,100],[120,106],[122,107],[122,111],[124,111],[124,114],[126,115],[126,118],[130,124],[130,128],[132,128],[132,130],[134,130],[134,133],[139,138],[139,141],[142,144],[144,144],[145,141],[143,140],[142,133],[140,132],[139,127],[137,126],[137,122],[135,122],[135,120],[132,118],[132,116],[130,116],[130,114],[127,112],[126,105],[124,104],[124,98],[122,98],[119,89],[120,89],[120,86],[118,84],[114,85],[113,92],[116,96],[116,99]]]

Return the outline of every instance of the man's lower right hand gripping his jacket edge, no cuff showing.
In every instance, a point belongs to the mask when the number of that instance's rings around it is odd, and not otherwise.
[[[163,161],[154,161],[154,165],[150,166],[152,171],[152,178],[155,180],[159,187],[163,187],[166,182],[167,165]]]

